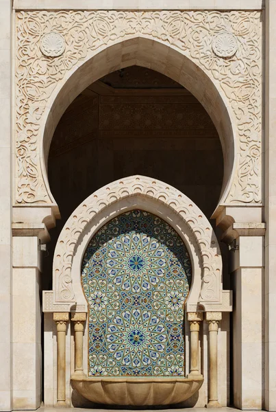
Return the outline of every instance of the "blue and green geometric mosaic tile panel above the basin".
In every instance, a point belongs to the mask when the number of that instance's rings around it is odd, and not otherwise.
[[[88,301],[88,376],[184,375],[191,263],[164,220],[133,210],[92,238],[81,268]]]

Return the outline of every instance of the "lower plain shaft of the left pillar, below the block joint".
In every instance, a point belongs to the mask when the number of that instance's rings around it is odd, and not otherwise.
[[[41,402],[40,273],[33,266],[13,269],[14,409],[36,409]]]

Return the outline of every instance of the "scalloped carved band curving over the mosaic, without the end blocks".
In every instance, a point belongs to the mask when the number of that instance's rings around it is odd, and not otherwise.
[[[168,214],[175,212],[186,222],[191,238],[193,237],[198,245],[197,253],[202,266],[199,302],[221,304],[221,252],[210,222],[183,193],[146,176],[131,176],[102,187],[81,203],[67,220],[58,238],[53,259],[54,304],[74,301],[71,275],[73,256],[87,225],[92,225],[92,220],[99,211],[137,194],[164,203],[168,207]]]

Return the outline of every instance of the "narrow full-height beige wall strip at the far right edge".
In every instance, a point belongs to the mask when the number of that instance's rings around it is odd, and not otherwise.
[[[276,409],[276,185],[275,185],[275,110],[276,110],[276,1],[266,0],[266,130],[265,130],[265,220],[267,224],[265,238],[265,269],[264,269],[264,348],[265,348],[265,396],[264,406],[268,410]]]

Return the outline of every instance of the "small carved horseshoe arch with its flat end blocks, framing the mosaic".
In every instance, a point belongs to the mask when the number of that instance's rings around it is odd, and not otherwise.
[[[230,311],[231,293],[229,290],[223,290],[221,251],[208,219],[199,207],[179,190],[161,181],[138,175],[101,187],[97,192],[88,196],[86,201],[81,203],[68,218],[55,247],[53,291],[44,291],[43,310],[45,312],[86,311],[86,304],[84,304],[84,299],[79,298],[81,293],[77,291],[76,284],[80,284],[81,261],[87,244],[95,231],[114,217],[114,213],[110,214],[108,208],[112,207],[112,211],[115,211],[115,216],[117,216],[126,211],[126,208],[129,210],[134,208],[133,203],[130,202],[134,197],[144,199],[145,210],[153,213],[153,203],[149,210],[147,202],[155,201],[155,214],[162,217],[179,233],[188,246],[189,252],[194,248],[190,258],[197,268],[195,270],[193,267],[194,279],[192,279],[192,288],[186,302],[186,310],[188,312]],[[122,201],[125,201],[124,208],[122,208]],[[140,207],[142,203],[138,203]],[[165,210],[166,218],[156,213],[158,204]],[[105,210],[108,210],[107,216],[99,222],[97,217]],[[170,221],[167,215],[170,216]],[[96,221],[97,228],[94,232],[86,231]],[[181,231],[181,225],[185,227],[184,231]],[[86,239],[84,240],[85,232]],[[183,236],[184,232],[188,233],[191,239],[190,245],[187,244],[187,238]],[[197,256],[197,264],[195,264],[195,256]],[[77,261],[77,265],[74,260]],[[75,268],[73,268],[74,264]],[[75,284],[73,273],[77,278]],[[195,276],[197,276],[197,282],[195,282]],[[194,288],[194,285],[197,286]]]

